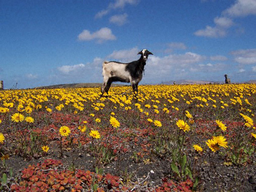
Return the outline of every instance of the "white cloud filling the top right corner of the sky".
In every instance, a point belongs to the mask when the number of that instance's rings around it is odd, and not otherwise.
[[[230,8],[223,12],[231,17],[245,17],[247,15],[256,15],[255,0],[237,0]]]

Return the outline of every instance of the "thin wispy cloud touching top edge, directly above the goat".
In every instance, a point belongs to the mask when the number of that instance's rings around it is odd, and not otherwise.
[[[95,15],[96,19],[102,18],[104,15],[107,15],[111,10],[123,9],[126,4],[137,4],[139,0],[115,0],[115,3],[109,3],[108,8],[101,10]]]

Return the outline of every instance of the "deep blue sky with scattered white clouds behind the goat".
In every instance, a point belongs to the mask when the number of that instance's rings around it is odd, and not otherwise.
[[[4,88],[102,83],[148,57],[140,84],[256,79],[256,0],[0,0]]]

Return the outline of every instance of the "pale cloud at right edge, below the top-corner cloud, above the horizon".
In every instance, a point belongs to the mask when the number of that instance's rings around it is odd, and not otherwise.
[[[232,51],[231,54],[235,57],[237,63],[250,65],[256,63],[256,49],[243,49]]]

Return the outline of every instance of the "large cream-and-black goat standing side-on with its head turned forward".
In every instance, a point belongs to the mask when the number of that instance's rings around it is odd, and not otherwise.
[[[152,52],[143,49],[138,54],[141,54],[140,59],[130,63],[116,61],[104,61],[102,63],[103,84],[101,87],[102,95],[100,97],[103,96],[104,92],[108,94],[111,83],[114,81],[131,83],[133,92],[135,94],[138,93],[138,84],[142,79],[148,55],[152,54]]]

